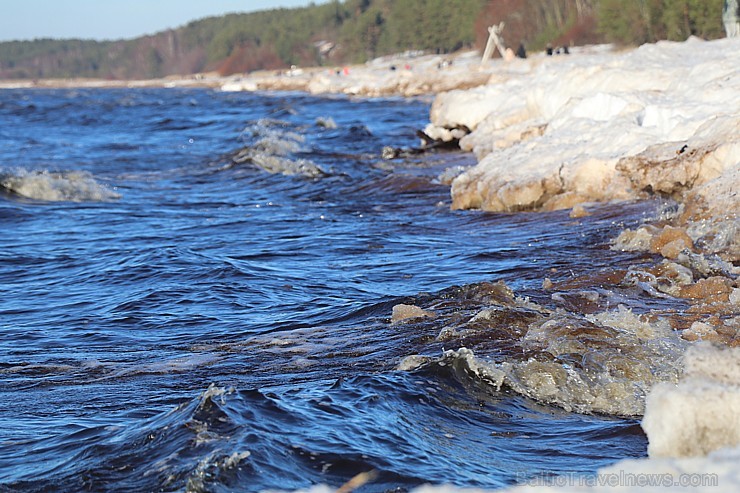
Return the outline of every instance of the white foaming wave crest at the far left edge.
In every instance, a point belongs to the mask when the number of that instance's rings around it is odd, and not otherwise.
[[[0,189],[44,202],[107,202],[121,197],[85,171],[3,169]]]

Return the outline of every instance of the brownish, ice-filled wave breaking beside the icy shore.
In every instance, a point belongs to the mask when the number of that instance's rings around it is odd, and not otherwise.
[[[598,304],[603,294],[569,296],[583,306]],[[497,390],[506,386],[568,411],[619,416],[641,415],[650,388],[676,382],[681,373],[686,342],[667,321],[622,306],[580,315],[484,283],[424,308],[437,316],[416,323],[438,330],[429,346],[441,346],[442,354],[409,356],[400,369],[462,365]]]

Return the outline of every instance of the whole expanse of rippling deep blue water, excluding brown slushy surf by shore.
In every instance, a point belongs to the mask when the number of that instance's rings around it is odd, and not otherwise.
[[[390,323],[394,305],[453,317],[499,281],[541,298],[554,269],[628,262],[605,245],[645,213],[451,211],[438,176],[471,156],[381,158],[418,146],[428,111],[1,91],[0,490],[260,491],[370,470],[362,491],[496,488],[643,456],[634,419],[456,365],[396,370],[457,348],[435,321]]]

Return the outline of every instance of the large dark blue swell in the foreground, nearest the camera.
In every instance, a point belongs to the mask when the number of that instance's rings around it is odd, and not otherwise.
[[[264,491],[340,485],[374,470],[367,491],[443,482],[511,484],[532,464],[578,457],[605,464],[605,437],[641,443],[633,422],[539,413],[521,399],[502,403],[466,388],[451,368],[391,372],[238,390],[211,384],[174,409],[128,426],[72,427],[62,435],[2,443],[11,489],[46,491]],[[471,420],[470,414],[475,418]],[[515,419],[517,427],[511,427]],[[537,439],[532,439],[536,436]],[[505,444],[515,443],[512,457]],[[553,457],[563,449],[571,455]],[[471,463],[471,450],[480,460]],[[50,455],[54,461],[35,460]],[[477,454],[474,454],[477,455]],[[29,465],[32,464],[32,465]],[[2,474],[0,473],[0,480]]]

